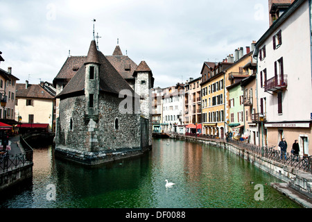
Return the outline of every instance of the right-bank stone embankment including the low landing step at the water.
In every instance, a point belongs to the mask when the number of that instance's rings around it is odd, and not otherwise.
[[[259,153],[246,150],[239,143],[226,142],[223,139],[186,135],[171,135],[171,138],[225,148],[272,176],[283,180],[284,183],[271,183],[271,186],[303,207],[312,208],[312,174],[309,172],[263,157]]]

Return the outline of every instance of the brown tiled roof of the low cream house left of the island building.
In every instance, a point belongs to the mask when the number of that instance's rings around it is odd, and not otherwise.
[[[54,96],[51,96],[44,88],[40,85],[28,84],[26,89],[25,83],[16,84],[16,97],[26,97],[26,98],[38,98],[38,99],[53,99]]]

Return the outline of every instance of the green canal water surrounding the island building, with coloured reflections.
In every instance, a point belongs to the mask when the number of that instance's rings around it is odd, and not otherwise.
[[[146,155],[95,168],[55,160],[49,146],[35,148],[33,162],[33,179],[1,194],[1,207],[300,207],[270,187],[281,180],[204,144],[154,139]]]

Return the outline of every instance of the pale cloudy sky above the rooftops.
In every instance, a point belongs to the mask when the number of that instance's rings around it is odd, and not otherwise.
[[[123,54],[147,62],[155,87],[168,87],[259,40],[268,0],[0,0],[0,68],[12,67],[18,83],[52,82],[69,50],[87,55],[93,19],[104,55],[119,38]]]

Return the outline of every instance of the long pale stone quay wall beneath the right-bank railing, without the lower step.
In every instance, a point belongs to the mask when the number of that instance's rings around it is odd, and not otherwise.
[[[195,137],[185,137],[181,135],[172,135],[171,138],[185,140],[189,142],[198,142],[210,146],[218,146],[220,148],[225,148],[244,160],[248,160],[250,163],[259,167],[263,171],[270,173],[272,176],[283,180],[288,183],[288,186],[295,189],[300,194],[308,198],[312,198],[312,174],[306,173],[294,167],[289,167],[280,162],[270,160],[266,157],[261,157],[250,151],[245,151],[235,144],[227,143],[224,141],[212,141],[209,139],[195,138]]]

